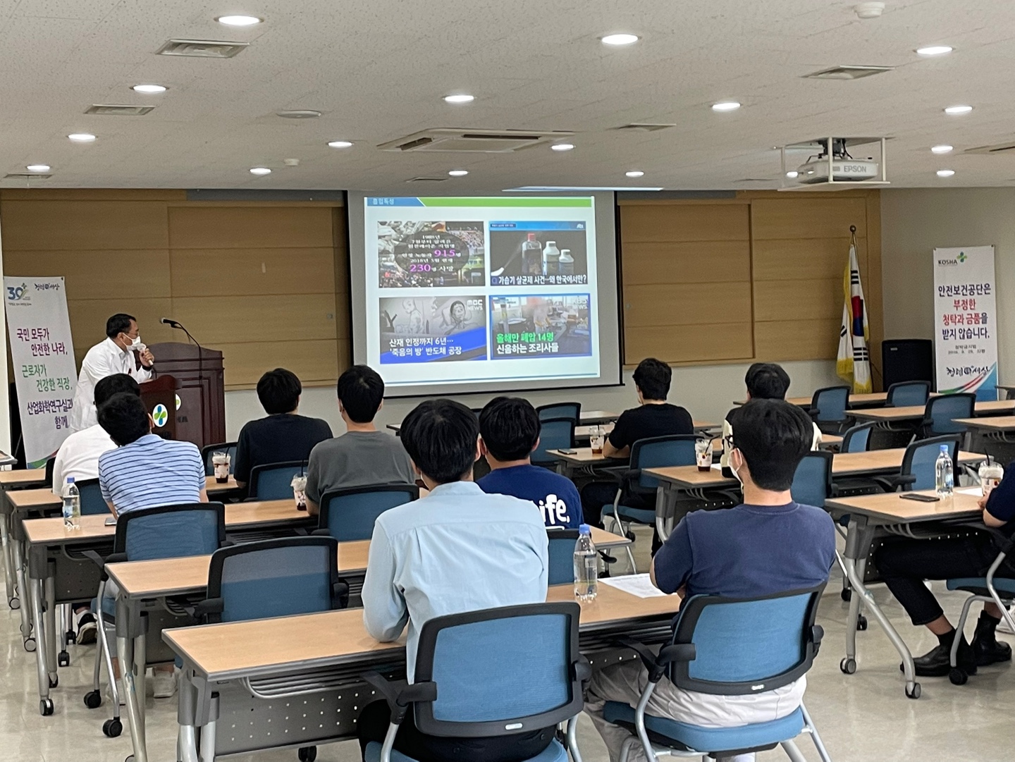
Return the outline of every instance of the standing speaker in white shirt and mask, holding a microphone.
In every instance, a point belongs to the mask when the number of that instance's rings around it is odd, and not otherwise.
[[[106,341],[88,350],[81,361],[81,372],[74,391],[74,406],[70,411],[71,431],[82,431],[98,423],[93,399],[95,385],[108,375],[126,373],[138,383],[151,378],[154,356],[141,343],[137,320],[117,313],[106,321]],[[141,362],[137,367],[134,353]]]

